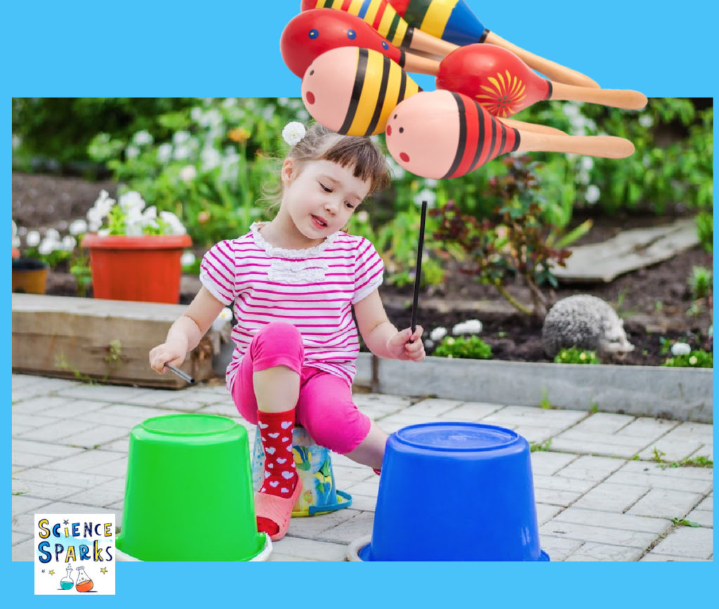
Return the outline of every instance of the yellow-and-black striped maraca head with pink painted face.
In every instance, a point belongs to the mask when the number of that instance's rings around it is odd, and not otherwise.
[[[398,102],[420,91],[390,58],[372,49],[339,47],[322,53],[302,78],[302,101],[313,118],[345,135],[385,130]]]

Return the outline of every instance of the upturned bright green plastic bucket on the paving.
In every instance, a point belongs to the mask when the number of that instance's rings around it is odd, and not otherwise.
[[[142,561],[247,561],[257,532],[247,431],[229,418],[173,414],[132,429],[117,549]]]

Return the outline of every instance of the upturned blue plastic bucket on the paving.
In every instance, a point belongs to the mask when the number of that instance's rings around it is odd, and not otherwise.
[[[510,429],[424,423],[385,448],[370,561],[540,561],[529,445]]]

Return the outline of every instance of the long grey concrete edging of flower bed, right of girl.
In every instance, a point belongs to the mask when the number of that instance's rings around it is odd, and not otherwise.
[[[354,384],[379,393],[427,396],[713,422],[713,369],[449,360],[383,360],[360,353]],[[374,386],[373,386],[374,385]]]

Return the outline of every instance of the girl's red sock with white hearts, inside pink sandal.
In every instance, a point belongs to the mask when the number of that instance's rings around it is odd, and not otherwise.
[[[257,425],[262,449],[265,450],[265,480],[259,492],[288,499],[297,484],[297,470],[292,453],[295,409],[278,413],[258,411]],[[279,531],[279,527],[269,518],[259,517],[257,530],[274,535]]]

